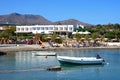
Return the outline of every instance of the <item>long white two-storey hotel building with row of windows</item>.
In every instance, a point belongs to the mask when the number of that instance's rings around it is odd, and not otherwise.
[[[16,26],[16,33],[43,33],[53,34],[57,33],[72,33],[74,31],[73,25],[25,25]]]

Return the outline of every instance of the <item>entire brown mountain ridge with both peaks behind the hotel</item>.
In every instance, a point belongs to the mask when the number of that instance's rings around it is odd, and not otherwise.
[[[16,24],[16,25],[24,25],[24,24],[38,24],[38,25],[52,25],[52,24],[61,24],[61,25],[84,25],[90,26],[91,24],[81,22],[76,19],[68,19],[62,21],[52,22],[41,15],[33,15],[33,14],[19,14],[19,13],[11,13],[7,15],[0,15],[0,24]]]

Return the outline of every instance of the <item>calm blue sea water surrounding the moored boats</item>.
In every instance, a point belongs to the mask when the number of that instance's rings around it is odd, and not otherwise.
[[[0,80],[120,80],[120,49],[62,50],[57,55],[96,56],[105,65],[60,65],[55,56],[34,56],[39,51],[11,52],[0,56]],[[61,71],[46,71],[61,66]]]

